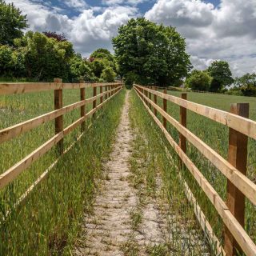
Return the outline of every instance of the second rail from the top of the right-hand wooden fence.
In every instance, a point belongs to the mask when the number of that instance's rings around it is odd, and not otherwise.
[[[142,97],[144,97],[142,95]],[[256,205],[256,184],[250,181],[244,174],[237,170],[230,162],[222,158],[217,152],[210,148],[205,142],[202,142],[200,138],[195,136],[190,130],[183,127],[177,120],[172,118],[169,114],[162,110],[162,108],[154,102],[151,104],[162,114],[171,125],[173,125],[179,133],[186,137],[186,139],[192,143],[210,162],[214,164],[236,186],[246,197]]]

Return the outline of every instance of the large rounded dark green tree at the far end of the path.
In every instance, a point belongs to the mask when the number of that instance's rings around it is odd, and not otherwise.
[[[191,67],[185,39],[175,28],[145,18],[132,18],[121,26],[113,46],[126,81],[175,86]]]

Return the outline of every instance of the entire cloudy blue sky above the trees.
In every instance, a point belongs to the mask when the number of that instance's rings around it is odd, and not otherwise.
[[[175,26],[194,68],[226,60],[234,76],[256,72],[256,0],[6,0],[27,14],[29,30],[66,34],[84,57],[130,18]]]

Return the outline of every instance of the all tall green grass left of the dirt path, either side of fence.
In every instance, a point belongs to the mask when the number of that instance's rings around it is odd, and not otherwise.
[[[86,98],[90,98],[91,94],[91,90],[86,90]],[[79,90],[64,90],[63,105],[78,102],[79,95]],[[84,211],[90,210],[95,189],[94,179],[101,175],[102,160],[110,154],[123,99],[124,92],[106,104],[100,118],[60,159],[50,171],[49,177],[30,194],[24,205],[11,211],[6,222],[0,224],[0,255],[71,254]],[[53,108],[53,92],[2,96],[0,129],[34,118]],[[87,110],[90,108],[87,106]],[[79,110],[65,114],[65,127],[78,119],[79,115]],[[66,136],[65,147],[74,142],[80,133],[78,127]],[[49,122],[10,142],[4,142],[0,146],[0,151],[4,152],[0,156],[0,173],[53,135],[54,122]],[[14,202],[56,157],[54,148],[0,192],[0,219],[7,210],[12,210]]]

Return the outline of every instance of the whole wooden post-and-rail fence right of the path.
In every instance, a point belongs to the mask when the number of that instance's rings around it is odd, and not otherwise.
[[[187,169],[190,170],[190,173],[194,176],[196,182],[198,182],[198,185],[222,218],[225,224],[224,253],[231,256],[240,251],[246,255],[255,256],[256,245],[246,233],[246,230],[244,230],[245,198],[248,198],[256,206],[256,184],[246,177],[247,141],[248,138],[256,139],[256,122],[248,119],[249,104],[232,104],[230,112],[226,112],[187,101],[186,94],[182,94],[182,98],[178,98],[166,94],[166,90],[162,93],[155,90],[153,86],[134,85],[134,90],[142,99],[146,110],[148,110],[165,134],[170,145],[177,152],[181,159],[181,165],[185,164]],[[162,99],[162,107],[158,106],[158,98]],[[180,106],[180,122],[171,117],[170,114],[167,114],[167,102]],[[210,146],[186,129],[186,110],[191,110],[196,114],[210,118],[230,128],[228,160],[222,158]],[[162,115],[162,122],[157,118],[157,113]],[[174,141],[174,138],[166,130],[166,122],[169,122],[178,130],[179,144]],[[210,185],[210,182],[198,170],[194,162],[186,155],[186,141],[194,145],[199,152],[226,176],[226,202],[222,200],[220,195],[214,190],[214,187]],[[216,241],[215,238],[214,236]],[[222,251],[222,248],[219,251]]]

